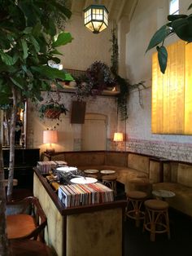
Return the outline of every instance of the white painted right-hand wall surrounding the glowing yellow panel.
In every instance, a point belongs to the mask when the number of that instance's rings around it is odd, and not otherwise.
[[[187,8],[190,6],[190,0],[180,1],[181,12],[186,13]],[[130,30],[126,35],[126,67],[129,80],[139,82],[146,81],[146,90],[142,90],[144,108],[141,108],[138,103],[138,93],[134,90],[129,98],[129,120],[127,121],[127,137],[128,137],[128,150],[152,153],[158,152],[159,148],[154,148],[154,145],[164,143],[167,148],[166,152],[161,152],[161,157],[171,156],[170,147],[172,143],[177,145],[177,156],[174,158],[191,161],[192,157],[192,136],[187,135],[153,135],[151,133],[151,55],[155,50],[148,51],[145,54],[146,47],[150,42],[152,35],[159,29],[165,22],[167,22],[168,15],[168,0],[139,0],[137,7],[133,13],[132,20],[130,20]],[[166,44],[176,41],[176,36],[169,38]],[[154,142],[148,148],[143,147],[135,148],[135,144],[130,147],[130,141],[140,140],[143,142]],[[178,143],[178,144],[177,144]],[[185,154],[190,156],[180,157],[180,147],[185,147],[183,150]],[[151,150],[152,147],[152,150]]]

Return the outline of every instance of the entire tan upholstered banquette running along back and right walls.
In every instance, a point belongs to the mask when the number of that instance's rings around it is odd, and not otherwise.
[[[150,179],[153,189],[170,190],[176,194],[168,198],[169,205],[192,216],[192,164],[161,161],[135,152],[80,151],[43,153],[42,161],[67,161],[79,170],[116,170],[117,181],[124,184],[125,192],[132,189],[133,179]],[[162,164],[163,163],[163,164]]]

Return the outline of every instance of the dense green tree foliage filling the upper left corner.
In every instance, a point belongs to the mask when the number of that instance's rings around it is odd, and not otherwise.
[[[0,97],[11,104],[12,87],[17,99],[41,99],[41,90],[65,73],[47,66],[57,60],[56,47],[72,42],[70,33],[61,32],[56,18],[70,18],[71,11],[57,0],[7,0],[0,10]],[[52,17],[52,19],[50,19]],[[57,38],[55,40],[55,38]]]

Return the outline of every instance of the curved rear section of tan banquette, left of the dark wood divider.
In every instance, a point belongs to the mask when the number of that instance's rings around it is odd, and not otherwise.
[[[151,179],[159,182],[159,164],[153,163],[151,157],[132,152],[81,151],[43,153],[42,161],[67,161],[68,166],[79,170],[116,170],[117,181],[124,184],[129,191],[129,182],[133,179]]]

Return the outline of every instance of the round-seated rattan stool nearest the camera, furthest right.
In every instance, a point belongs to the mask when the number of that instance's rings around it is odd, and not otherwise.
[[[168,220],[168,203],[166,201],[151,199],[145,201],[146,215],[143,231],[151,232],[151,241],[155,241],[156,233],[168,232],[170,239],[170,228]]]

